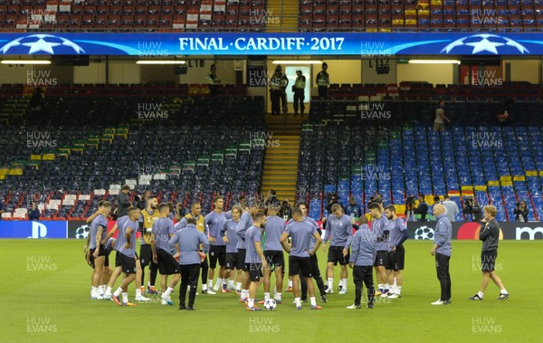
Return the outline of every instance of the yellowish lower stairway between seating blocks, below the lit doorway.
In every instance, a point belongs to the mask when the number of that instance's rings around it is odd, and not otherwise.
[[[292,203],[296,194],[300,131],[307,117],[266,116],[267,148],[262,172],[262,191],[273,189],[280,200]]]

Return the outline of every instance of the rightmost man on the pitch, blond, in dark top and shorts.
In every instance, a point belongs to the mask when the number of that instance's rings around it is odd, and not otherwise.
[[[481,249],[481,271],[482,281],[481,290],[470,300],[482,300],[483,293],[489,285],[490,279],[500,288],[500,295],[496,300],[505,300],[509,298],[509,293],[503,287],[500,277],[494,272],[496,257],[498,256],[498,242],[500,241],[500,224],[495,219],[497,214],[496,207],[493,205],[484,206],[484,220],[479,239],[482,241]]]

